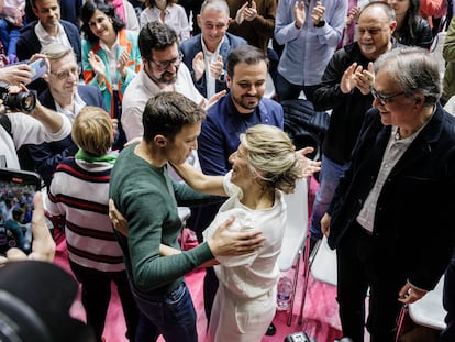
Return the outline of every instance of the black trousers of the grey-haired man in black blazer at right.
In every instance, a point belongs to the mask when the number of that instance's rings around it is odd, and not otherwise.
[[[406,276],[400,275],[399,267],[395,267],[393,263],[381,261],[381,255],[375,255],[374,239],[354,223],[336,247],[340,319],[344,337],[349,337],[354,342],[364,341],[368,288],[369,315],[366,327],[371,342],[393,341],[397,317],[401,310],[398,293],[406,284]]]

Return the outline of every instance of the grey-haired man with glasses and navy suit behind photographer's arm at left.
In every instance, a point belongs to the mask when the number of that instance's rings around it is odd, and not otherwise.
[[[44,76],[48,88],[38,97],[44,107],[67,117],[71,123],[86,106],[100,107],[106,110],[99,89],[79,84],[80,70],[71,48],[52,43],[42,49],[42,54],[49,62],[49,71]],[[116,119],[113,120],[116,126]],[[57,165],[64,158],[75,155],[78,147],[69,134],[57,142],[27,145],[26,150],[34,169],[48,186]]]

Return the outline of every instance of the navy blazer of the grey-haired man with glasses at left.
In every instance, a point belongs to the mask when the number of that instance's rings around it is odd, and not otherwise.
[[[104,108],[101,93],[97,87],[80,85],[77,91],[88,106]],[[48,89],[40,96],[40,102],[52,110],[56,110],[54,98]],[[67,137],[41,145],[27,145],[29,155],[33,161],[36,172],[43,177],[46,185],[51,183],[54,170],[67,156],[75,155],[78,147],[73,142],[71,134]]]

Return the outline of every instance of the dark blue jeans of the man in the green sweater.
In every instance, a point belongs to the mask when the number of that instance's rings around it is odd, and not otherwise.
[[[142,317],[136,342],[156,341],[163,334],[166,342],[198,342],[196,310],[185,283],[166,295],[144,297],[133,289]]]

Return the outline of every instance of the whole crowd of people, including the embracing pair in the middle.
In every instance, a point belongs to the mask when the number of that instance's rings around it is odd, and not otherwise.
[[[197,342],[184,276],[198,267],[208,342],[260,341],[284,194],[318,172],[311,247],[325,234],[336,249],[343,335],[393,341],[402,304],[445,274],[441,341],[454,340],[452,14],[451,0],[0,0],[0,167],[36,172],[46,195],[2,195],[19,250],[0,263],[52,262],[44,202],[64,218],[93,341],[113,282],[129,341]],[[30,109],[8,99],[29,90]],[[330,112],[321,146],[296,151],[285,100]]]

